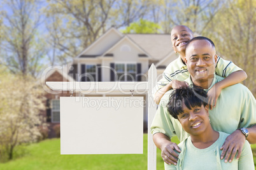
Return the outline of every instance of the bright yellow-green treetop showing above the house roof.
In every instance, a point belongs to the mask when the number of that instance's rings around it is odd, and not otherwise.
[[[148,20],[140,19],[139,22],[133,22],[126,27],[124,33],[159,33],[160,25]]]

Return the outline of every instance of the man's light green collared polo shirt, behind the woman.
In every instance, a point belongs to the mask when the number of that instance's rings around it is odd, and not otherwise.
[[[223,77],[215,75],[210,88]],[[185,81],[192,84],[190,77]],[[209,89],[210,89],[209,88]],[[208,91],[209,89],[205,89]],[[178,136],[180,141],[189,134],[182,129],[178,119],[174,119],[167,111],[170,91],[162,97],[152,122],[151,133],[164,133],[169,138]],[[211,126],[215,131],[231,134],[238,128],[250,128],[256,124],[256,100],[250,90],[243,84],[235,84],[222,89],[216,107],[209,110]]]

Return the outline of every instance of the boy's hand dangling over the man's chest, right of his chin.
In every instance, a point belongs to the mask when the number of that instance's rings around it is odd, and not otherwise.
[[[213,87],[208,91],[208,104],[211,110],[213,110],[213,107],[216,106],[218,96],[220,96],[221,91],[222,89],[218,88],[216,84],[214,84]]]

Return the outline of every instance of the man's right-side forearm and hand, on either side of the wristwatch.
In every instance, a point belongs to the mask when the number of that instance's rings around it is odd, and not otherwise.
[[[245,140],[248,140],[250,144],[256,143],[256,124],[251,128],[247,129],[249,131],[249,135],[247,138],[245,138],[245,134],[243,134],[240,129],[237,129],[231,135],[227,136],[224,144],[220,148],[220,150],[222,150],[220,159],[224,159],[225,156],[225,162],[227,162],[228,160],[229,162],[232,162],[234,156],[236,155],[236,152],[238,152],[236,159],[239,159],[243,149],[243,145],[245,144]]]

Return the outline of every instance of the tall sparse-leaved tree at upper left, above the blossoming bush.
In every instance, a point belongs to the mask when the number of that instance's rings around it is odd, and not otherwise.
[[[44,55],[44,41],[39,37],[39,1],[3,1],[1,55],[8,69],[22,75],[38,75]]]

